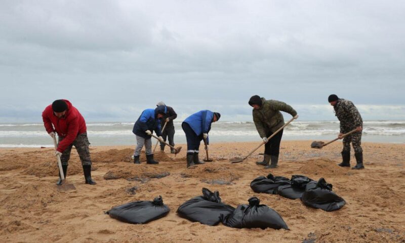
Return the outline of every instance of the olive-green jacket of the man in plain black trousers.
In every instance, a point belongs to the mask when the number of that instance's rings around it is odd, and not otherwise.
[[[253,109],[253,121],[261,138],[267,137],[268,132],[274,133],[284,125],[284,117],[280,111],[290,113],[292,116],[297,115],[297,111],[290,105],[277,100],[266,100],[263,97],[260,109]]]

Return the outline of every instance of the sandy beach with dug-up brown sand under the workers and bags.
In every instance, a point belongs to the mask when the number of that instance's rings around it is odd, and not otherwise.
[[[52,148],[0,149],[0,230],[2,242],[405,242],[405,144],[363,143],[365,170],[337,166],[340,142],[311,149],[311,141],[282,141],[279,167],[255,165],[259,149],[243,163],[229,158],[247,155],[258,143],[213,143],[211,163],[186,169],[186,147],[176,157],[155,153],[159,165],[131,163],[133,146],[91,147],[95,186],[84,183],[72,150],[68,183],[77,190],[59,192]],[[168,152],[168,148],[166,148]],[[203,153],[204,152],[204,153]],[[200,159],[205,157],[201,146]],[[352,155],[351,164],[355,164]],[[258,176],[323,177],[346,200],[338,211],[305,207],[299,199],[258,194],[250,182]],[[164,177],[162,177],[164,176]],[[161,178],[159,178],[161,177]],[[221,184],[216,184],[221,183]],[[177,208],[201,189],[218,190],[233,207],[257,196],[276,210],[290,230],[234,229],[222,224],[192,223]],[[145,225],[119,222],[105,214],[114,206],[163,196],[171,212]]]

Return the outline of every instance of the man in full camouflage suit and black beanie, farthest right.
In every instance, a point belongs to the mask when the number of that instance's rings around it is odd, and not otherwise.
[[[351,101],[340,99],[337,95],[330,95],[329,103],[335,110],[335,115],[340,121],[339,138],[342,139],[343,134],[356,129],[356,132],[343,138],[342,163],[341,167],[350,167],[350,142],[352,143],[354,156],[356,157],[356,166],[352,169],[364,169],[363,166],[363,150],[361,148],[361,131],[363,120],[356,106]]]

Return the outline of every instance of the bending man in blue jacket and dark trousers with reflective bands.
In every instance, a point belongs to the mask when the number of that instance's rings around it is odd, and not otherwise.
[[[219,120],[220,117],[221,114],[218,112],[200,110],[187,117],[181,124],[187,139],[187,168],[204,164],[198,159],[199,144],[201,140],[206,139],[206,150],[208,150],[208,133],[211,130],[211,124]]]

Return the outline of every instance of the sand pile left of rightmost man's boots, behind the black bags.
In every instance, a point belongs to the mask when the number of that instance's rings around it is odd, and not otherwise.
[[[318,175],[320,177],[344,175],[348,172],[347,168],[338,166],[336,161],[325,158],[309,159],[298,171],[301,175]]]

